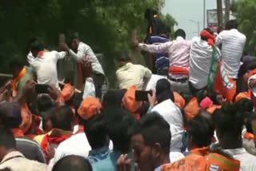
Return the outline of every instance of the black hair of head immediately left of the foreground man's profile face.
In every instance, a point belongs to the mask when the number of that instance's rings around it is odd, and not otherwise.
[[[110,139],[113,141],[114,150],[128,153],[130,150],[128,129],[134,125],[133,114],[118,107],[104,109],[102,114],[106,118],[106,128]]]

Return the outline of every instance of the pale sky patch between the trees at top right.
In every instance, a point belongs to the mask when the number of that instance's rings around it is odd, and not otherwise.
[[[216,0],[206,0],[206,10],[217,8]],[[198,23],[190,22],[194,20],[200,22],[200,30],[204,28],[203,25],[203,0],[166,0],[166,6],[162,10],[163,14],[171,14],[178,26],[186,31],[186,38],[192,38],[198,35]],[[206,27],[206,26],[205,26]]]

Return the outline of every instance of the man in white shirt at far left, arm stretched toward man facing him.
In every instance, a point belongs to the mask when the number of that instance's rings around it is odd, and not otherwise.
[[[66,57],[66,52],[46,51],[39,41],[31,44],[31,54],[34,59],[30,66],[38,77],[38,84],[55,85],[58,87],[57,62]]]

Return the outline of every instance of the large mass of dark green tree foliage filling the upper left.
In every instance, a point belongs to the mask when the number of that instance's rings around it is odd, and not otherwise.
[[[83,42],[101,50],[107,74],[114,74],[114,52],[130,47],[134,29],[146,30],[144,11],[161,10],[164,0],[2,0],[0,1],[1,72],[8,72],[14,57],[26,62],[30,38],[39,38],[47,49],[58,50],[58,34],[78,32]],[[170,26],[176,23],[166,16]]]

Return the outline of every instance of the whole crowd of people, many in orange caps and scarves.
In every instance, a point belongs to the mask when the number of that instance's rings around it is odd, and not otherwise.
[[[145,17],[132,46],[149,66],[118,52],[118,85],[104,94],[102,65],[77,34],[60,51],[30,41],[28,65],[11,62],[0,88],[0,170],[256,170],[256,58],[238,23],[170,40],[155,10]],[[60,60],[77,64],[78,85],[59,81]]]

